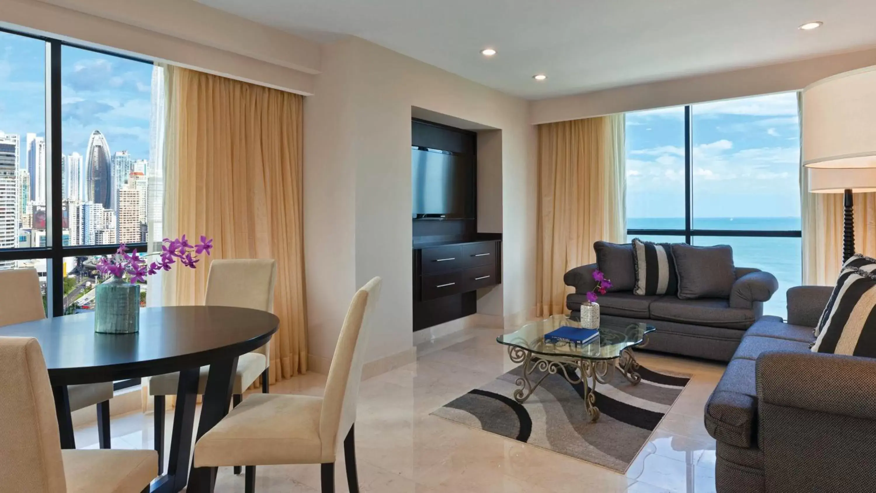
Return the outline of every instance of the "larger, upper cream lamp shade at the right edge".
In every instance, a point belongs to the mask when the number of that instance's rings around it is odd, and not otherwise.
[[[876,67],[809,85],[802,110],[803,166],[876,167]]]

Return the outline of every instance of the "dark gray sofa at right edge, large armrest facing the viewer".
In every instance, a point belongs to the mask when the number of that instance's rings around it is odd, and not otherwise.
[[[705,407],[718,493],[876,491],[876,360],[812,353],[830,287],[788,290],[788,323],[764,316]]]

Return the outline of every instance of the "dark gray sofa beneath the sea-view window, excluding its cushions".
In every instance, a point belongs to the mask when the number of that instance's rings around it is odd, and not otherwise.
[[[586,293],[593,289],[597,264],[566,272],[563,281],[575,287],[566,298],[572,316],[579,314]],[[727,299],[678,299],[674,295],[637,296],[607,292],[599,297],[600,317],[619,322],[646,322],[657,328],[647,349],[682,356],[730,361],[745,334],[763,314],[763,302],[779,288],[773,274],[736,268],[736,282]]]

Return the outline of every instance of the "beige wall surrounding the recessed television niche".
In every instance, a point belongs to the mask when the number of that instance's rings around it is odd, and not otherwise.
[[[384,285],[368,360],[413,345],[412,107],[501,130],[503,306],[505,314],[528,312],[534,300],[536,173],[526,102],[362,39],[325,47],[314,93],[305,102],[311,353],[331,356],[350,285],[372,276],[382,277]],[[345,232],[337,235],[335,226]]]

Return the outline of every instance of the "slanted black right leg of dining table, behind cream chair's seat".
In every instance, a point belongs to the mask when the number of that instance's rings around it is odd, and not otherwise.
[[[228,414],[234,377],[237,374],[237,357],[223,362],[211,363],[207,377],[207,389],[201,404],[201,421],[197,438],[201,438]],[[217,468],[195,468],[194,463],[186,491],[189,493],[212,492]]]

